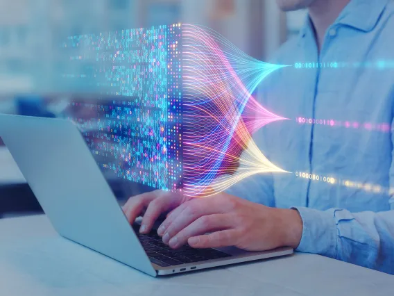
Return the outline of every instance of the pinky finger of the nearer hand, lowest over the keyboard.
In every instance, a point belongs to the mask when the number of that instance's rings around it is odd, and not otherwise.
[[[205,234],[203,236],[194,236],[189,238],[187,242],[190,247],[196,249],[230,247],[232,245],[237,245],[238,238],[239,232],[236,229],[228,229]]]

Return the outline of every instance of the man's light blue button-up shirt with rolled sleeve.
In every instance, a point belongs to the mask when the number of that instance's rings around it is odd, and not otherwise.
[[[253,138],[292,174],[255,175],[228,192],[296,208],[300,252],[394,274],[394,2],[352,0],[320,54],[307,19],[274,62],[293,67],[271,74],[259,100],[290,120]]]

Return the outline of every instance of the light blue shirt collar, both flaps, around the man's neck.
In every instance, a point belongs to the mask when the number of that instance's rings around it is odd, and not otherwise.
[[[364,32],[372,31],[379,22],[388,1],[391,0],[352,0],[333,25],[342,24]],[[300,29],[299,38],[304,38],[308,32],[313,32],[309,15]]]

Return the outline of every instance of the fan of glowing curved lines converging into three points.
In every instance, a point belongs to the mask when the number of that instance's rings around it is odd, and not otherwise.
[[[209,28],[182,25],[182,35],[185,194],[205,197],[252,174],[285,172],[266,159],[250,135],[284,120],[251,96],[268,74],[284,66],[251,58]]]

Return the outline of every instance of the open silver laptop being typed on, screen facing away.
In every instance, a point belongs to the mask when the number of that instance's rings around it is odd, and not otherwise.
[[[174,250],[156,231],[140,234],[69,120],[0,115],[0,137],[60,236],[153,277],[293,253],[289,247],[246,252],[185,245]]]

